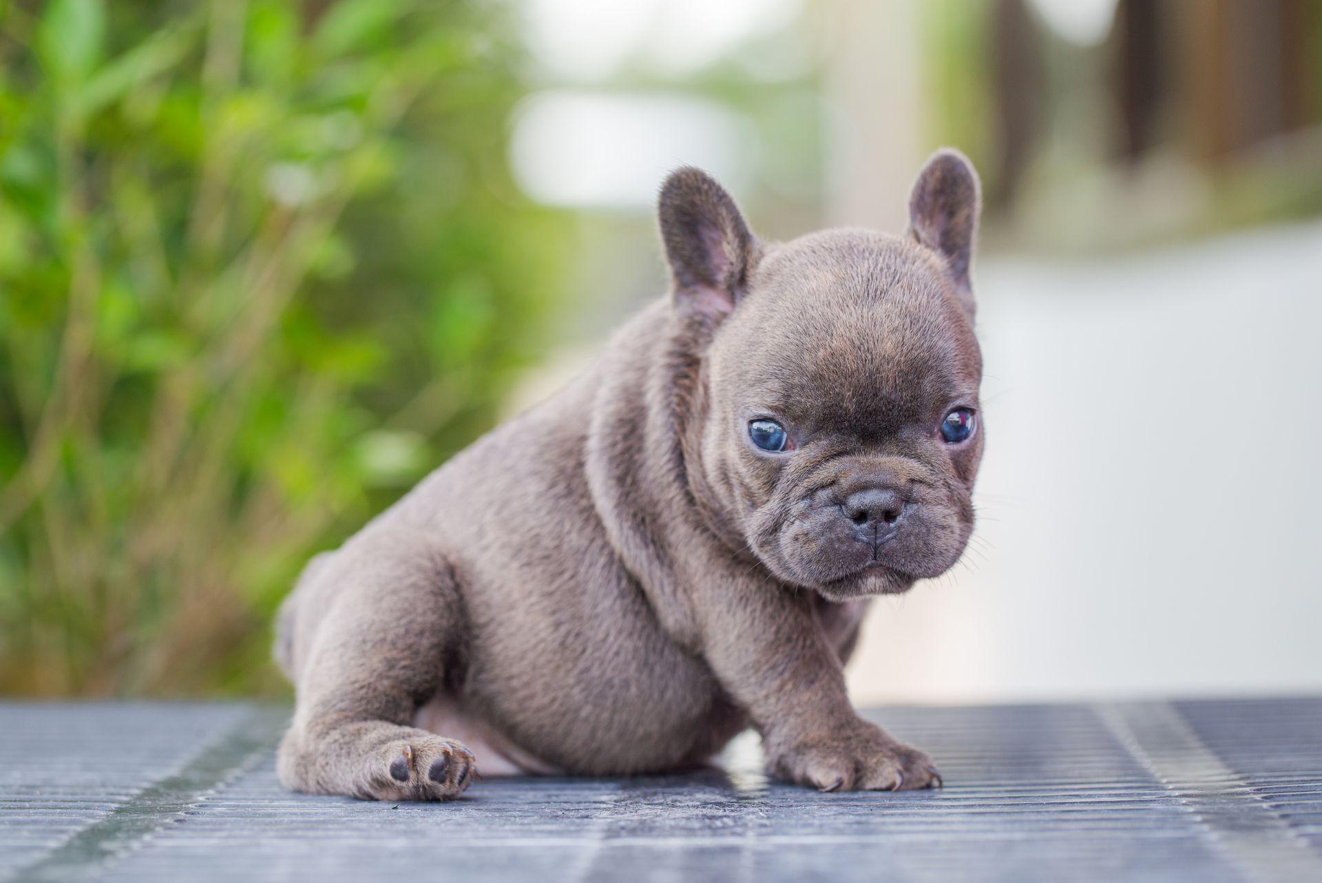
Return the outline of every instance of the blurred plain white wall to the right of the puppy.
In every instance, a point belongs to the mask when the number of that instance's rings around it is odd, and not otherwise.
[[[1322,225],[977,268],[982,519],[857,702],[1322,690]]]

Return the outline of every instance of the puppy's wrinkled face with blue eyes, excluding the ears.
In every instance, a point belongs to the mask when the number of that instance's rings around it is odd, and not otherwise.
[[[707,352],[707,484],[779,579],[902,592],[973,530],[981,373],[933,252],[865,231],[777,246]]]

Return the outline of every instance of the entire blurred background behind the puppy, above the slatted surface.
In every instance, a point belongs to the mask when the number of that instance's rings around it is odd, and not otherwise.
[[[755,229],[984,176],[989,440],[859,702],[1322,690],[1317,0],[0,0],[0,693],[287,690],[301,564]]]

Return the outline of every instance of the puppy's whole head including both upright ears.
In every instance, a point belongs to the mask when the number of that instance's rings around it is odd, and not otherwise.
[[[964,551],[984,439],[977,213],[953,151],[919,174],[903,238],[760,243],[710,177],[666,180],[661,233],[697,365],[690,481],[779,579],[833,600],[902,592]]]

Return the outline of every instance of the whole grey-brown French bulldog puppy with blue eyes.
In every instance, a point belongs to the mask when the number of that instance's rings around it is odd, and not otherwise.
[[[842,666],[869,597],[947,571],[973,530],[978,202],[941,151],[907,235],[773,243],[670,174],[669,295],[300,576],[280,780],[451,798],[479,763],[657,772],[751,726],[804,785],[940,784],[854,712]]]

